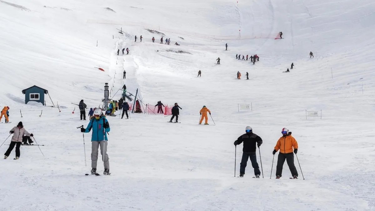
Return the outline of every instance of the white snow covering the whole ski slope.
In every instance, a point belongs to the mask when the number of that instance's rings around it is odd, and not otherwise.
[[[0,124],[1,143],[23,121],[45,145],[45,157],[23,146],[20,160],[1,161],[0,210],[374,210],[374,10],[370,0],[0,0],[0,107],[10,107],[12,121]],[[117,33],[121,27],[126,34]],[[181,45],[161,45],[145,29]],[[284,39],[275,40],[279,31]],[[123,47],[130,54],[117,56]],[[188,53],[172,52],[179,50]],[[258,54],[260,62],[236,54]],[[112,175],[87,177],[91,137],[85,134],[85,167],[76,127],[88,121],[79,120],[78,107],[72,114],[71,102],[97,107],[104,83],[111,96],[126,83],[146,103],[178,102],[182,123],[108,117]],[[61,112],[25,105],[21,90],[33,85],[47,89]],[[237,104],[250,103],[252,112],[238,112]],[[215,126],[197,124],[202,105]],[[322,110],[323,118],[306,120],[305,110]],[[234,177],[233,142],[247,125],[264,140],[264,179],[251,178],[251,165]],[[271,175],[283,127],[299,142],[305,180],[297,160],[299,180],[288,179],[287,164],[273,179],[277,157]],[[237,175],[241,152],[240,145]]]

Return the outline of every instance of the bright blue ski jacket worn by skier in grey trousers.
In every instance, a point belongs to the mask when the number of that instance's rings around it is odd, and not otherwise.
[[[107,128],[103,127],[104,123],[107,124]],[[91,129],[93,130],[91,137],[92,142],[108,141],[107,132],[109,132],[111,128],[105,116],[101,116],[99,119],[92,118],[86,127],[85,133],[89,133]]]

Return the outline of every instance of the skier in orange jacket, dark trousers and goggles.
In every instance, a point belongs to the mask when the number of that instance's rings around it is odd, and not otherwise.
[[[275,155],[277,151],[279,151],[278,155],[278,165],[276,166],[276,179],[279,179],[282,176],[282,167],[284,165],[285,159],[287,159],[287,163],[289,166],[289,170],[292,173],[293,179],[298,179],[298,172],[296,166],[294,166],[294,154],[297,154],[298,151],[298,143],[296,139],[294,139],[292,132],[289,132],[287,128],[282,128],[282,137],[276,143],[275,149],[273,150],[272,154]],[[294,150],[293,150],[294,148]]]

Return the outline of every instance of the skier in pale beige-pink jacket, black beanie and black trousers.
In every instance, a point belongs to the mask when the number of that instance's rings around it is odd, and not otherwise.
[[[34,135],[31,133],[28,133],[25,128],[23,127],[22,122],[18,122],[18,125],[16,127],[13,127],[12,130],[9,131],[10,134],[13,134],[12,140],[10,140],[9,148],[5,152],[5,157],[4,159],[8,158],[10,155],[10,152],[12,152],[14,146],[16,146],[16,158],[13,160],[18,160],[20,158],[20,146],[22,142],[22,136],[31,136],[33,137]]]

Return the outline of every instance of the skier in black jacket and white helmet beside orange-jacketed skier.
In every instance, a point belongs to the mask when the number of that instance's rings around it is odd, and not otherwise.
[[[251,165],[254,168],[254,174],[256,178],[259,178],[260,170],[259,165],[257,162],[257,146],[258,148],[263,143],[261,137],[257,134],[253,133],[253,129],[248,126],[246,127],[246,133],[242,136],[238,137],[238,139],[234,142],[234,146],[239,145],[243,142],[243,149],[242,149],[242,160],[240,164],[240,177],[243,177],[245,174],[245,168],[248,163],[248,159],[250,157]]]

